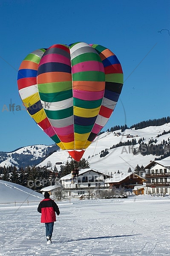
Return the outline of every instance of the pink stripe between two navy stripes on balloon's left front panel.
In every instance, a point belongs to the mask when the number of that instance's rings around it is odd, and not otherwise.
[[[59,62],[59,63],[63,63],[63,64],[66,64],[66,65],[69,65],[71,66],[71,61],[70,59],[66,58],[65,56],[63,55],[60,55],[60,54],[48,54],[48,55],[45,55],[41,60],[40,60],[40,65],[42,64],[45,64],[45,63],[48,63],[48,62]]]

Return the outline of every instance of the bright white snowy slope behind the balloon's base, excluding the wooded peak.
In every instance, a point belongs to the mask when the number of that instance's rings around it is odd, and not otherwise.
[[[83,157],[88,160],[90,167],[103,171],[105,173],[114,173],[119,171],[127,172],[129,167],[133,170],[137,166],[143,165],[147,166],[150,160],[155,159],[155,155],[149,154],[143,156],[141,154],[133,155],[133,148],[138,150],[139,144],[138,140],[144,137],[144,143],[148,143],[150,139],[157,140],[157,145],[163,140],[168,140],[170,134],[165,134],[157,137],[158,134],[162,134],[164,131],[170,130],[170,123],[161,126],[150,126],[147,128],[135,130],[127,129],[124,132],[121,130],[115,132],[105,132],[99,135],[92,144],[86,149]],[[121,133],[119,136],[118,134]],[[132,135],[133,138],[127,138],[128,135]],[[134,146],[121,146],[118,148],[112,148],[120,142],[127,142],[128,140],[135,139],[137,144]],[[108,148],[109,154],[105,157],[100,157],[101,151]],[[46,166],[47,162],[50,161],[54,168],[56,162],[66,163],[70,159],[67,151],[59,150],[49,157],[47,157],[42,163],[37,166]],[[58,171],[60,170],[60,165],[56,165]]]

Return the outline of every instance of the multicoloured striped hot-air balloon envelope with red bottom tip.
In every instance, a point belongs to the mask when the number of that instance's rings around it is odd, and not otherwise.
[[[54,44],[26,56],[17,84],[37,125],[79,161],[115,109],[123,72],[106,47]]]

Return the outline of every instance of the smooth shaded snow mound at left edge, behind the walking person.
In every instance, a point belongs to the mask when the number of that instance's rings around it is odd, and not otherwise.
[[[29,202],[37,202],[41,201],[42,198],[43,196],[40,193],[37,193],[32,189],[5,180],[0,180],[0,204],[14,203],[14,201],[23,203],[27,202],[27,200],[29,200]]]

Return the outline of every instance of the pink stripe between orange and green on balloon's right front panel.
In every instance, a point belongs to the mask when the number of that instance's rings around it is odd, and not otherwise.
[[[73,97],[83,100],[97,100],[102,99],[104,96],[104,90],[99,92],[73,90]]]

